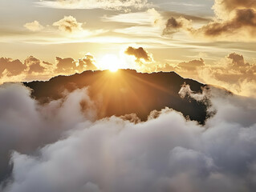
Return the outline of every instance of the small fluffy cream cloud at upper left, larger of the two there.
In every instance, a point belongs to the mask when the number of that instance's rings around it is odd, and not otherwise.
[[[75,31],[83,30],[83,23],[77,22],[76,18],[70,16],[65,16],[63,19],[60,19],[58,22],[54,22],[53,26],[58,26],[59,30],[67,33],[72,33]]]

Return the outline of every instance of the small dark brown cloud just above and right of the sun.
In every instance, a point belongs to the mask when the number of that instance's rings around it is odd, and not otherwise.
[[[151,55],[148,54],[148,51],[144,50],[143,47],[134,48],[132,46],[129,46],[124,53],[135,56],[138,62],[140,62],[141,59],[144,59],[145,62],[152,62]]]

